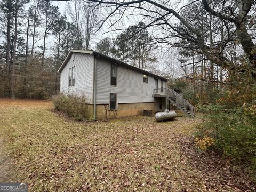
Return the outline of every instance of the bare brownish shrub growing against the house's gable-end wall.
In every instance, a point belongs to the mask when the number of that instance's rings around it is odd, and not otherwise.
[[[63,95],[52,97],[55,108],[78,120],[85,121],[89,118],[89,105],[85,95]]]

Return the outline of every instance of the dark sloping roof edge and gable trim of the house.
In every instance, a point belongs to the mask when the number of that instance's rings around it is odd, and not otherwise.
[[[134,67],[134,66],[131,66],[127,63],[124,63],[122,61],[119,61],[117,59],[114,59],[114,58],[111,58],[111,57],[108,57],[107,55],[104,55],[104,54],[101,54],[101,53],[98,53],[96,51],[92,51],[92,50],[70,50],[68,55],[66,56],[65,60],[61,63],[61,66],[60,68],[58,69],[58,73],[60,73],[62,71],[62,69],[66,66],[69,58],[71,57],[71,54],[72,53],[86,53],[86,54],[92,54],[94,55],[95,57],[98,57],[98,58],[102,58],[102,59],[106,59],[110,62],[115,62],[117,65],[120,65],[120,66],[124,66],[124,67],[127,67],[127,68],[130,68],[130,69],[133,69],[133,70],[136,70],[136,71],[140,71],[141,73],[143,74],[146,74],[146,75],[150,75],[150,76],[153,76],[153,77],[156,77],[156,78],[159,78],[159,79],[162,79],[164,81],[168,81],[168,79],[164,78],[164,77],[161,77],[161,76],[158,76],[158,75],[155,75],[153,73],[150,73],[146,70],[142,70],[138,67]]]

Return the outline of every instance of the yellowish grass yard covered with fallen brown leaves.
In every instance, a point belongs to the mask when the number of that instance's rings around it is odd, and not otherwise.
[[[77,122],[51,102],[9,99],[0,117],[0,182],[28,182],[29,191],[255,190],[242,169],[194,149],[198,117]]]

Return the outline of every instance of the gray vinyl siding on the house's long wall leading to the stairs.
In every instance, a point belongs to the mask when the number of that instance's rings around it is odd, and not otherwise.
[[[117,104],[155,102],[153,97],[155,79],[153,76],[148,76],[148,83],[145,83],[143,82],[143,73],[118,66],[117,86],[111,86],[110,69],[109,61],[97,59],[97,104],[109,103],[110,93],[117,94]],[[164,87],[166,87],[166,82]],[[158,88],[161,88],[161,79],[158,80]]]

